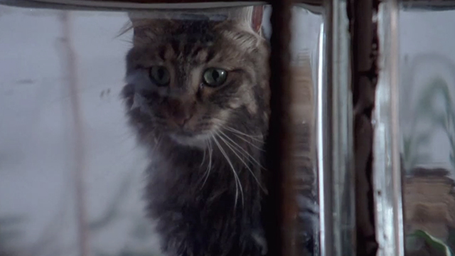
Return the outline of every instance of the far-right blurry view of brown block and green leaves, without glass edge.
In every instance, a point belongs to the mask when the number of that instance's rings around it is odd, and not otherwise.
[[[455,251],[455,11],[400,11],[406,255]]]

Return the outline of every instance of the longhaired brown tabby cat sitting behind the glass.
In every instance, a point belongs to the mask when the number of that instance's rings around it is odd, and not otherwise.
[[[169,256],[267,253],[269,49],[251,26],[251,7],[227,13],[130,15],[122,95],[149,149],[147,210]]]

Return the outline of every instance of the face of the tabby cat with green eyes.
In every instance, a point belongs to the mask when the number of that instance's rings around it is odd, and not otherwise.
[[[251,28],[234,21],[133,26],[123,95],[142,135],[200,146],[242,112],[263,114],[257,97],[268,97],[267,46]]]

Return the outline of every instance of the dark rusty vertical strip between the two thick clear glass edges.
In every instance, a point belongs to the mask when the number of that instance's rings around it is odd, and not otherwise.
[[[379,1],[349,0],[353,54],[353,127],[357,255],[378,251],[373,195],[373,108],[378,82],[378,37],[373,14]]]

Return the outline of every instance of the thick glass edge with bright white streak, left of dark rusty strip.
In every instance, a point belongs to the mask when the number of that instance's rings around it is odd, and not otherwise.
[[[355,255],[353,107],[346,1],[327,0],[316,100],[321,256]],[[327,99],[332,101],[328,102]]]

